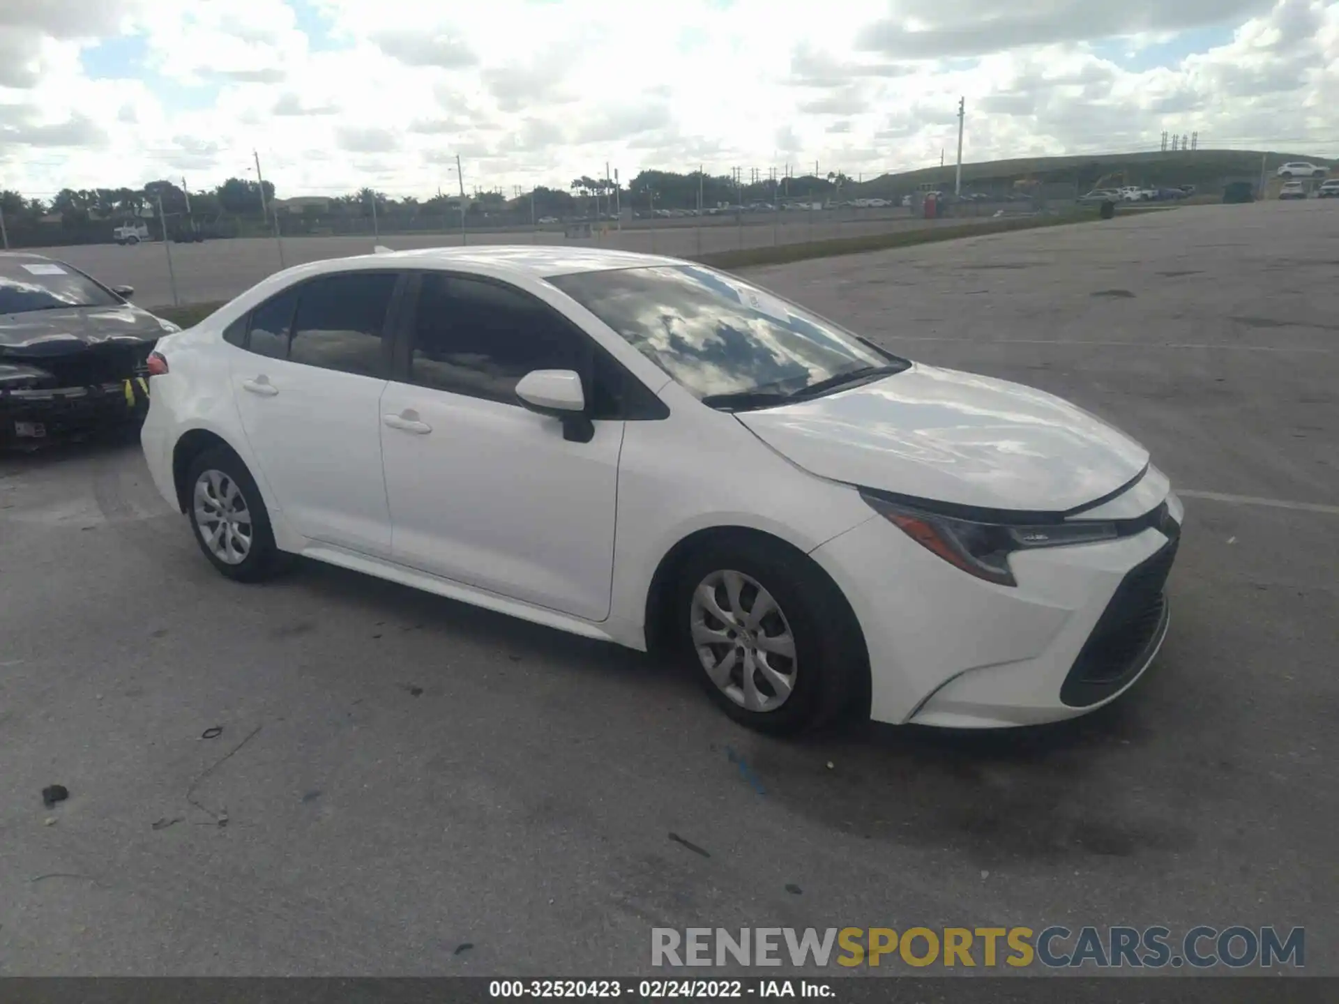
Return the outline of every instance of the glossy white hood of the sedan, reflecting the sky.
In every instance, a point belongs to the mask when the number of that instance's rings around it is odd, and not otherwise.
[[[920,364],[735,418],[819,477],[983,509],[1075,509],[1149,462],[1123,432],[1044,391]]]

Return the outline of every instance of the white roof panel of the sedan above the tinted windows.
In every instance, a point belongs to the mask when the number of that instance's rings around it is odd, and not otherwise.
[[[479,272],[525,274],[533,278],[565,276],[573,272],[604,272],[608,269],[645,268],[649,265],[680,265],[679,258],[663,254],[640,254],[612,248],[562,248],[552,245],[493,244],[474,248],[416,248],[359,254],[321,262],[358,261],[360,264],[390,265],[402,262],[418,268],[466,268]]]

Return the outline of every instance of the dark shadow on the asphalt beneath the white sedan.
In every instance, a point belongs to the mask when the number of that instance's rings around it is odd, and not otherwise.
[[[653,704],[656,714],[671,716],[670,728],[659,732],[664,742],[682,744],[680,754],[694,758],[710,746],[722,756],[723,771],[744,778],[740,797],[757,794],[841,834],[955,847],[987,867],[1019,858],[1055,863],[1169,855],[1196,842],[1170,799],[1157,805],[1157,797],[1153,803],[1134,797],[1138,782],[1149,778],[1146,763],[1161,758],[1149,748],[1158,734],[1146,722],[1137,688],[1090,715],[1050,726],[984,731],[844,722],[817,734],[773,738],[731,723],[698,692],[687,668],[661,655],[317,562],[301,562],[295,584],[372,608],[386,618],[384,631],[427,631],[580,675],[570,695],[557,687],[556,715],[588,701],[592,685],[601,693],[601,714],[609,716],[644,715],[644,705]],[[629,683],[629,676],[631,685],[613,685]],[[649,693],[657,700],[649,701]]]

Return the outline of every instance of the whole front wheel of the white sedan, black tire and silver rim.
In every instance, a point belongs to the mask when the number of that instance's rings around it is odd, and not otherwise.
[[[789,735],[852,707],[864,640],[837,586],[781,543],[723,542],[691,556],[675,594],[684,661],[735,722]]]

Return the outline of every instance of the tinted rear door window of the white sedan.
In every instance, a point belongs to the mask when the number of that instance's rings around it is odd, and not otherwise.
[[[396,278],[394,272],[347,272],[303,285],[289,361],[383,376],[382,333]]]

